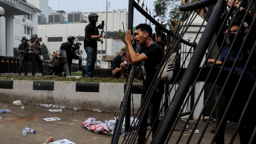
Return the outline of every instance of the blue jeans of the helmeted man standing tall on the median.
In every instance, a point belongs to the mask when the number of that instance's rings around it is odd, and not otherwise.
[[[95,72],[95,63],[97,60],[97,49],[90,47],[90,46],[86,46],[85,47],[85,52],[87,54],[87,61],[86,61],[86,77],[93,77],[94,76],[94,72]]]

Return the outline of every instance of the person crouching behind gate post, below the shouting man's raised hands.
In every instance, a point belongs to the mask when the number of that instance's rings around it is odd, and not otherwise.
[[[126,78],[126,66],[128,65],[127,59],[126,59],[126,52],[123,53],[123,58],[116,61],[114,64],[115,68],[112,70],[112,74],[115,78]]]

